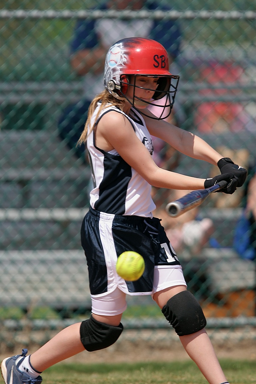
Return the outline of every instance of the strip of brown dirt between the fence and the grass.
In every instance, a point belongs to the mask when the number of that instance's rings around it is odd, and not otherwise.
[[[51,338],[56,332],[47,334]],[[219,359],[248,359],[256,361],[256,329],[247,328],[236,331],[208,330]],[[22,348],[29,353],[38,349],[45,334],[32,332],[29,335],[16,334],[15,346],[0,343],[0,358],[20,354]],[[30,341],[29,341],[30,340]],[[31,342],[33,340],[33,343]],[[38,340],[38,344],[36,344]],[[29,344],[29,345],[28,345]],[[177,361],[189,359],[181,346],[178,336],[168,329],[163,330],[125,330],[120,339],[107,349],[90,353],[80,353],[65,362],[111,363],[139,361]]]

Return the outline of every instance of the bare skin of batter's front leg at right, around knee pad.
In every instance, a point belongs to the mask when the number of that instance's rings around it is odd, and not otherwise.
[[[171,297],[185,290],[185,286],[174,286],[156,292],[153,297],[162,309]],[[186,352],[196,363],[209,384],[227,382],[205,329],[186,336],[180,336],[180,340]]]

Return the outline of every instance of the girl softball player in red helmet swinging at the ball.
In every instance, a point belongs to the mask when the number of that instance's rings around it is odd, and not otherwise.
[[[203,311],[186,290],[180,262],[160,220],[152,216],[151,185],[194,190],[232,180],[224,193],[243,185],[246,170],[221,156],[199,137],[164,121],[173,106],[178,76],[169,72],[165,48],[146,38],[115,43],[106,55],[105,90],[89,108],[79,142],[87,141],[94,188],[81,227],[90,280],[92,314],[58,333],[35,353],[2,361],[5,384],[38,383],[42,371],[81,351],[103,349],[123,331],[126,295],[151,295],[191,359],[210,384],[227,383],[209,337]],[[160,118],[147,109],[165,99]],[[220,174],[199,179],[159,168],[152,159],[151,135],[192,158],[218,165]],[[145,272],[138,281],[116,274],[118,255],[140,253]]]

